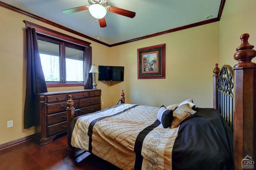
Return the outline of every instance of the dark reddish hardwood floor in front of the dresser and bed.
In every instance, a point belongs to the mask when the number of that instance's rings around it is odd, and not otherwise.
[[[0,170],[120,170],[88,152],[76,158],[71,153],[66,135],[47,145],[30,140],[0,150]]]

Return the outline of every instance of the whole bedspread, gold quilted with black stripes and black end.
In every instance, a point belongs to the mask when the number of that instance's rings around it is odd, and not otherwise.
[[[122,170],[234,168],[233,132],[216,109],[196,107],[193,118],[173,129],[163,128],[158,110],[120,104],[76,117],[71,145]]]

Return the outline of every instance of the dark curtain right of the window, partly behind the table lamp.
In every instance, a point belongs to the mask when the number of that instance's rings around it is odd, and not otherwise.
[[[84,89],[92,89],[92,47],[85,48],[84,58]]]

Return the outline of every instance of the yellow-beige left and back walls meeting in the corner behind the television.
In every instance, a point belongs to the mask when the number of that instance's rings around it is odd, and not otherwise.
[[[26,92],[26,36],[23,20],[72,35],[51,25],[0,7],[0,144],[34,134],[34,127],[23,129]],[[98,82],[102,109],[112,106],[124,89],[126,103],[161,106],[192,98],[198,107],[212,107],[212,70],[219,62],[219,22],[135,41],[116,47],[91,42],[92,64],[124,66],[124,82]],[[137,49],[166,44],[166,78],[137,79]],[[96,80],[98,75],[96,75]],[[83,87],[48,88],[49,92]],[[14,127],[7,128],[13,120]]]

